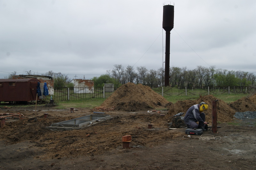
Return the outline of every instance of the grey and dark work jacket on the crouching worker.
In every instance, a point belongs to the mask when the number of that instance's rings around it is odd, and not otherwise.
[[[204,120],[202,120],[202,118],[200,117],[199,104],[195,104],[188,109],[184,117],[184,120],[187,125],[190,125],[191,122],[197,122],[197,121],[204,123]]]

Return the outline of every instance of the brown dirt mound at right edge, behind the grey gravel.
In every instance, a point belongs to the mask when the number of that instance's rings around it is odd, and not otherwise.
[[[252,97],[243,97],[235,102],[230,103],[230,107],[232,107],[236,112],[246,112],[246,111],[255,111],[256,110],[256,95]]]

